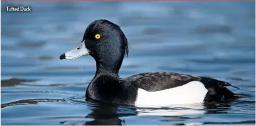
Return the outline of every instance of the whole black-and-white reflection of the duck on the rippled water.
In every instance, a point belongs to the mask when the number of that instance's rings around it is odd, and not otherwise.
[[[128,116],[144,116],[154,115],[166,117],[162,121],[177,121],[180,119],[200,118],[204,113],[225,113],[229,109],[229,104],[187,104],[176,105],[168,107],[147,106],[132,107],[132,106],[114,106],[110,104],[99,104],[95,101],[93,105],[89,105],[92,112],[85,116],[90,121],[81,122],[69,122],[71,125],[126,125],[125,119],[122,117]],[[199,125],[202,125],[200,123]],[[177,123],[177,125],[181,125]],[[183,124],[187,125],[187,124]],[[198,125],[198,124],[197,124]]]

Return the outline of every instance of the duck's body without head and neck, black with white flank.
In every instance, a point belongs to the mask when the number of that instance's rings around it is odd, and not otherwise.
[[[86,97],[112,104],[168,106],[239,98],[227,82],[177,73],[142,73],[121,79],[99,75],[87,87]]]

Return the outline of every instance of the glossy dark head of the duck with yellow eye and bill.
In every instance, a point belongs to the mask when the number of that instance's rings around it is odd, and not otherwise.
[[[91,55],[97,72],[118,73],[124,55],[128,55],[128,42],[120,27],[108,20],[95,20],[87,26],[79,46],[60,55],[60,59],[76,59]]]

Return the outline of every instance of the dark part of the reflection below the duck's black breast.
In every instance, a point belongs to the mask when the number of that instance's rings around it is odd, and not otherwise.
[[[94,100],[87,100],[87,106],[91,113],[86,115],[85,118],[89,121],[64,121],[61,123],[68,125],[125,125],[125,120],[120,119],[120,117],[137,115],[138,113],[136,108],[132,106],[115,106]]]

